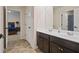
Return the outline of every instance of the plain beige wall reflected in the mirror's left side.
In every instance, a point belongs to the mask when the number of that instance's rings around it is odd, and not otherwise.
[[[54,29],[58,29],[58,27],[60,27],[60,20],[61,20],[60,12],[61,11],[59,7],[53,8],[53,28]]]

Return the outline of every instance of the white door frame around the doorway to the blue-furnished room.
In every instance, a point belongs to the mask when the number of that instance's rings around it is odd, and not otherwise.
[[[7,18],[7,12],[8,10],[13,10],[13,11],[18,11],[20,12],[20,39],[21,39],[21,28],[22,28],[22,25],[21,25],[21,22],[22,22],[22,10],[20,8],[8,8],[8,7],[14,7],[14,6],[6,6],[6,28],[8,29],[8,18]],[[6,29],[6,48],[8,46],[8,30]]]

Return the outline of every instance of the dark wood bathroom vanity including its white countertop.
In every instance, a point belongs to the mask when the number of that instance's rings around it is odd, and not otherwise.
[[[69,36],[72,37],[73,36]],[[60,35],[55,31],[37,31],[37,45],[42,52],[46,53],[78,53],[79,43],[74,40]]]

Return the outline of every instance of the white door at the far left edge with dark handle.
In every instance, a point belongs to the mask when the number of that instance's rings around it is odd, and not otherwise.
[[[0,7],[0,34],[3,34],[3,7]],[[4,51],[4,39],[0,38],[0,53]]]

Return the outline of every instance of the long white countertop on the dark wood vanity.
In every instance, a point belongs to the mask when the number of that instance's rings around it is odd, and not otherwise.
[[[39,28],[39,29],[37,29],[37,31],[51,35],[51,36],[56,36],[56,37],[64,38],[66,40],[70,40],[70,41],[79,43],[79,34],[68,35],[67,31],[63,31],[63,30],[61,30],[61,32],[58,33],[58,30],[56,30],[56,29],[49,31],[48,29],[40,29]]]

